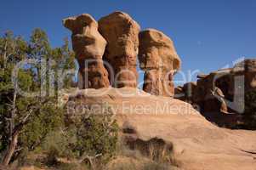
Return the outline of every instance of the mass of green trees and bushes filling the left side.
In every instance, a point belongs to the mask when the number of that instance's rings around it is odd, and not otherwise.
[[[46,154],[49,164],[54,164],[58,156],[83,160],[84,156],[98,155],[102,161],[113,156],[118,128],[109,108],[106,107],[104,115],[83,115],[69,120],[57,105],[58,92],[61,88],[70,88],[74,76],[71,72],[67,75],[75,68],[75,55],[67,39],[62,47],[52,48],[41,29],[32,31],[28,42],[8,31],[0,37],[0,57],[0,155],[8,149],[14,127],[28,117],[19,131],[15,150],[20,151],[14,153],[13,160],[19,158],[25,162],[27,155],[34,152]],[[37,63],[26,62],[15,80],[14,68],[24,59],[37,59]],[[41,74],[43,61],[46,61],[45,77]],[[50,77],[54,77],[51,80],[54,89],[50,86]],[[43,81],[46,82],[46,95],[41,91]],[[40,95],[22,95],[13,82],[27,94],[37,92]],[[52,90],[54,95],[50,95]]]

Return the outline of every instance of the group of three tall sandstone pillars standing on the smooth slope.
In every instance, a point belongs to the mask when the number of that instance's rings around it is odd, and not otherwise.
[[[172,40],[161,31],[139,33],[137,22],[122,12],[101,18],[99,29],[89,14],[67,18],[63,23],[72,31],[79,88],[107,88],[110,82],[115,88],[137,87],[139,54],[140,68],[145,71],[145,92],[174,95],[173,78],[180,59]],[[105,65],[102,58],[110,65]]]

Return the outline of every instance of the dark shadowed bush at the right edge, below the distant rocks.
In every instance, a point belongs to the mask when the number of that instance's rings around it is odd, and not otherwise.
[[[245,95],[245,111],[242,118],[247,129],[256,130],[256,90]]]

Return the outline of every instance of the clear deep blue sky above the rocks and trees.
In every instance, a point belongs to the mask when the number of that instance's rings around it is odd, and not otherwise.
[[[142,29],[171,37],[185,72],[208,73],[242,56],[256,58],[255,0],[3,0],[0,32],[28,38],[40,27],[56,47],[71,36],[61,23],[65,17],[88,13],[99,20],[116,10],[130,14]]]

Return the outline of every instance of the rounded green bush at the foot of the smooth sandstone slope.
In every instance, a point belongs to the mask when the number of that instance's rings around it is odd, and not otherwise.
[[[113,156],[117,149],[117,122],[108,105],[103,105],[100,115],[80,115],[68,124],[68,130],[76,134],[76,143],[71,144],[77,157],[102,155]],[[101,156],[101,157],[102,157]]]

